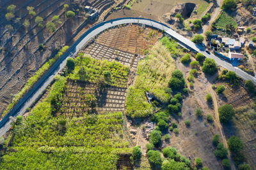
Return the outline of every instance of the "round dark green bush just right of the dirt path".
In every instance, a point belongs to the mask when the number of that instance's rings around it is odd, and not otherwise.
[[[232,120],[232,117],[235,115],[234,108],[228,104],[220,106],[220,108],[218,108],[218,112],[221,123],[227,123]]]

